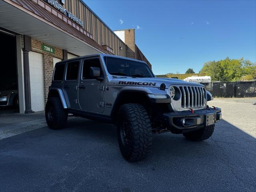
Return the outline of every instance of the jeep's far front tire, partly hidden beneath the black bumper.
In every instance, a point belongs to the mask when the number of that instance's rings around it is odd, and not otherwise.
[[[183,133],[183,136],[191,141],[202,141],[210,138],[214,132],[214,126],[215,125],[210,125],[206,126],[204,128],[201,128],[196,131],[188,132],[188,133]]]

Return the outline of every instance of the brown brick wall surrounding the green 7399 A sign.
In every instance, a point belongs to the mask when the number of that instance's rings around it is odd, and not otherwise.
[[[43,42],[40,42],[35,39],[31,39],[31,44],[32,44],[32,51],[38,52],[43,54],[43,73],[44,73],[44,101],[46,103],[47,101],[47,96],[48,96],[48,88],[52,83],[52,72],[53,72],[53,57],[63,59],[62,55],[62,49],[59,49],[57,47],[55,48],[55,54],[51,54],[48,52],[42,51],[42,44]],[[44,43],[46,44],[46,43]],[[46,44],[48,46],[51,46],[49,44]]]

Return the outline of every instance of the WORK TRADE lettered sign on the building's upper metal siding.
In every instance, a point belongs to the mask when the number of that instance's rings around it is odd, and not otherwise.
[[[60,12],[62,12],[65,16],[67,16],[68,18],[70,18],[71,20],[73,20],[74,22],[79,24],[80,26],[82,26],[82,27],[84,26],[84,22],[82,20],[80,20],[77,16],[72,14],[70,11],[67,11],[65,8],[63,8],[63,6],[56,0],[44,0],[44,1],[46,1],[48,4],[50,4],[51,6],[53,6]],[[61,3],[65,4],[65,0],[61,0]]]

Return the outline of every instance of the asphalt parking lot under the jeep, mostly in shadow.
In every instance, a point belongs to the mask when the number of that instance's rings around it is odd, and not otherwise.
[[[0,191],[256,191],[256,99],[215,99],[223,120],[191,142],[153,137],[141,162],[122,158],[116,128],[82,118],[0,140]]]

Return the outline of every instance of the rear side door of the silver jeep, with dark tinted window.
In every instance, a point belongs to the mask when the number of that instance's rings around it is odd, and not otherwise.
[[[80,60],[72,60],[67,62],[66,76],[64,80],[63,90],[66,98],[68,98],[70,108],[78,107],[78,74]]]

